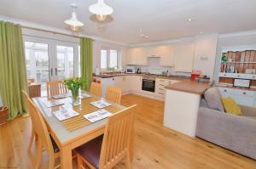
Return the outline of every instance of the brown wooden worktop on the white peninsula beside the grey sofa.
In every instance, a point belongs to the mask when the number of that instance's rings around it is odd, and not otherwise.
[[[195,82],[183,80],[166,86],[166,89],[177,90],[185,93],[203,94],[207,88],[212,86],[212,82]]]

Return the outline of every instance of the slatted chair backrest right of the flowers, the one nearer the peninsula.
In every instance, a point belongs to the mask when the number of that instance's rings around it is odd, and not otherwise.
[[[120,89],[118,87],[108,87],[107,88],[106,99],[108,99],[109,101],[112,101],[116,104],[120,104],[121,97],[122,97],[122,89]]]

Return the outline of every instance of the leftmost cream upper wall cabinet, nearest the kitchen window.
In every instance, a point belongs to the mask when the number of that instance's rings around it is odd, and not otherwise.
[[[148,65],[146,48],[129,48],[127,65]]]

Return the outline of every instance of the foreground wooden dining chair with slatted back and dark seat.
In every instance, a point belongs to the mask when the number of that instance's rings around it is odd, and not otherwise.
[[[133,109],[136,105],[110,115],[104,135],[75,149],[78,153],[79,169],[84,163],[91,169],[109,169],[125,159],[126,168],[131,168],[133,149]]]

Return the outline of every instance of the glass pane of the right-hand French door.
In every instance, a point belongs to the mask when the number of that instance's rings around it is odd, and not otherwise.
[[[57,48],[57,69],[55,76],[64,79],[73,76],[73,47],[56,46]]]

